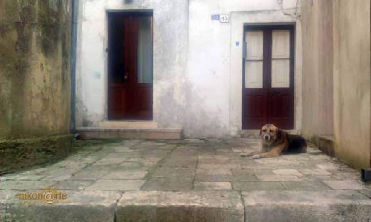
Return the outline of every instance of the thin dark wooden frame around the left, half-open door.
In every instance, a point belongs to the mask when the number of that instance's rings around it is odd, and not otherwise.
[[[153,9],[129,9],[129,10],[106,10],[106,45],[105,45],[105,52],[106,52],[106,78],[105,78],[105,120],[108,120],[108,99],[109,99],[109,81],[110,81],[110,74],[112,72],[112,55],[109,52],[109,48],[111,46],[111,27],[109,25],[110,17],[114,14],[121,14],[121,15],[132,15],[132,14],[140,14],[140,15],[147,15],[152,16],[152,21],[154,21],[154,10]],[[153,23],[154,26],[154,23]],[[152,51],[153,51],[153,57],[152,57],[152,118],[150,121],[154,120],[154,27],[153,28],[153,39],[152,39]],[[131,119],[122,119],[118,121],[132,121]],[[148,121],[148,120],[134,120],[134,121]]]

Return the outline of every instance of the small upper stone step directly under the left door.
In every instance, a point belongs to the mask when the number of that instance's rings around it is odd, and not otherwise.
[[[155,129],[157,123],[153,120],[104,120],[99,123],[99,128],[108,129]]]

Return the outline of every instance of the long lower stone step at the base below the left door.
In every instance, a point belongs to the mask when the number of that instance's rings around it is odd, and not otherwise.
[[[181,139],[181,128],[76,128],[83,138],[141,138],[141,139]]]

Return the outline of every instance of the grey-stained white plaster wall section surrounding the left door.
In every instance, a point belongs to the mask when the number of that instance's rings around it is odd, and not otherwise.
[[[107,10],[154,10],[154,120],[183,125],[188,2],[82,0],[78,32],[76,125],[97,127],[107,117]]]

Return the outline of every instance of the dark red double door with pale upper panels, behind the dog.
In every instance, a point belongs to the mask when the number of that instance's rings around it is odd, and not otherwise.
[[[242,128],[292,129],[294,27],[247,26],[244,41]]]

